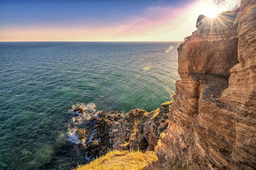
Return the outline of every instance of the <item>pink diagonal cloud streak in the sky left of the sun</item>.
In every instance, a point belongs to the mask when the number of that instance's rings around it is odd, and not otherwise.
[[[127,27],[118,32],[116,36],[140,36],[142,34],[149,36],[163,31],[163,29],[176,29],[186,20],[184,13],[189,11],[189,6],[181,8],[155,6],[148,8],[143,15],[137,18],[134,17],[134,20],[125,24]]]

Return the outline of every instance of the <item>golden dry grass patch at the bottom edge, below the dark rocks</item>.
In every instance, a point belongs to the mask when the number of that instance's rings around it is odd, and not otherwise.
[[[77,168],[77,170],[89,169],[143,169],[153,161],[157,160],[154,152],[129,152],[129,151],[113,151],[107,153],[99,159],[93,160],[90,164],[86,164]]]

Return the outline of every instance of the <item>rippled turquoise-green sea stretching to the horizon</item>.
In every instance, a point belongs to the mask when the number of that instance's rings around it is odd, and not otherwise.
[[[70,169],[68,108],[155,110],[172,100],[179,43],[0,43],[0,169]],[[65,155],[65,156],[64,156]]]

